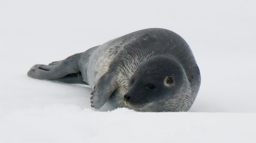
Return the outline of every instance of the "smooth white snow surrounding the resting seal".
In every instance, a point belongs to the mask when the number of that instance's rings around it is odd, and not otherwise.
[[[0,142],[255,142],[255,1],[0,1]],[[145,28],[190,44],[202,75],[184,113],[90,107],[89,87],[26,76],[36,63]]]

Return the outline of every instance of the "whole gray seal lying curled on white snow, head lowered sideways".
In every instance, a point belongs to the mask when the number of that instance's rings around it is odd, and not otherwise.
[[[27,75],[89,85],[96,109],[110,102],[140,112],[188,111],[201,81],[186,41],[159,28],[132,32],[62,61],[36,64]]]

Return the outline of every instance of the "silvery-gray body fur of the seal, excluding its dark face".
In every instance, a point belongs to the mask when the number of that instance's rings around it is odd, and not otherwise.
[[[125,104],[124,95],[131,76],[143,61],[159,55],[179,62],[185,71],[184,86],[174,96],[161,101],[162,103],[149,102],[141,108]],[[190,47],[179,35],[166,29],[132,32],[63,61],[53,62],[48,66],[36,64],[29,70],[28,76],[87,84],[95,88],[91,103],[97,109],[109,101],[116,107],[142,112],[188,111],[200,87],[200,73]],[[161,107],[161,104],[164,106]]]

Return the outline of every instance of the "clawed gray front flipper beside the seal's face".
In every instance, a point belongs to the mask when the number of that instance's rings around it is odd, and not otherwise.
[[[109,73],[102,75],[91,93],[91,106],[100,109],[117,88],[118,86],[113,82],[113,77]]]

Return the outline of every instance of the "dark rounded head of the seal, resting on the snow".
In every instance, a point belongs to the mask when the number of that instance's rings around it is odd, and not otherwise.
[[[153,56],[138,66],[124,99],[135,111],[176,112],[190,108],[185,101],[190,93],[181,64],[173,57]]]

